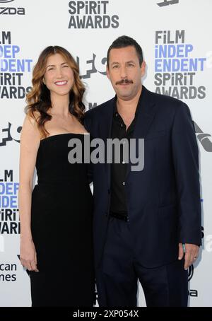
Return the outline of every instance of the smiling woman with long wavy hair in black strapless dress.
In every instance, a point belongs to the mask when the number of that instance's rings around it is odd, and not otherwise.
[[[20,137],[20,262],[30,271],[33,306],[92,306],[93,197],[86,164],[68,161],[69,140],[83,144],[86,134],[85,88],[59,46],[40,54],[32,82]]]

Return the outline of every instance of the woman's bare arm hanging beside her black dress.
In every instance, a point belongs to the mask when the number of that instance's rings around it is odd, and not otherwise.
[[[37,129],[37,124],[33,118],[27,115],[20,134],[20,185],[18,199],[20,212],[20,262],[30,271],[37,271],[36,250],[30,225],[33,175],[39,145],[40,132]]]

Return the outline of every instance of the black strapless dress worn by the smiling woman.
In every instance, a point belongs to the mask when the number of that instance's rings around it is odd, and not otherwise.
[[[31,228],[40,272],[30,272],[32,306],[93,305],[93,196],[88,165],[68,161],[71,138],[83,146],[83,134],[58,134],[37,151]]]

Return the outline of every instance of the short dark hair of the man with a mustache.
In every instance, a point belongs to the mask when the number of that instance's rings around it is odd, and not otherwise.
[[[122,35],[121,37],[118,37],[116,40],[114,40],[114,42],[112,42],[112,45],[107,50],[107,67],[109,67],[109,56],[111,49],[125,48],[129,46],[135,47],[136,53],[139,58],[139,64],[141,66],[143,62],[143,52],[141,46],[133,38],[128,37],[127,35]]]

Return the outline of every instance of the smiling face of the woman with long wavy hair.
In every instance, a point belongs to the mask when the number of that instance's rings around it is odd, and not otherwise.
[[[69,95],[73,87],[73,70],[61,54],[52,54],[47,59],[43,82],[51,95]]]

